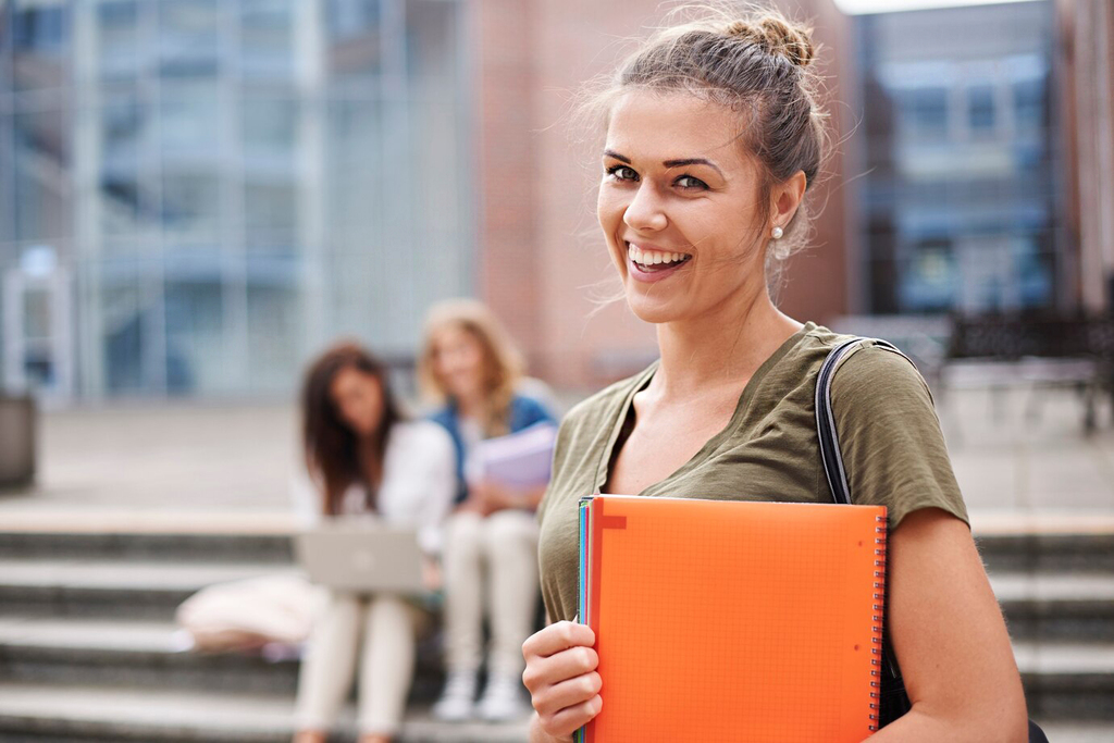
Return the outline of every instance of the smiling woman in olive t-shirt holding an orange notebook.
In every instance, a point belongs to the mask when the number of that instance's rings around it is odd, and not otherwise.
[[[813,393],[848,339],[786,316],[770,292],[805,241],[824,151],[810,31],[772,11],[695,16],[646,41],[595,98],[597,217],[661,359],[580,403],[558,434],[538,512],[555,623],[522,647],[537,742],[569,741],[606,706],[592,630],[574,622],[580,497],[832,500]],[[873,740],[1026,740],[1009,638],[925,381],[867,342],[831,395],[856,502],[888,511],[886,628],[906,690],[882,685]],[[659,629],[663,645],[700,632]]]

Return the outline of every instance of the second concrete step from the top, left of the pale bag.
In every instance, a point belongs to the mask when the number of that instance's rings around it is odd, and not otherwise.
[[[260,564],[3,559],[0,607],[9,615],[168,622],[182,602],[205,586],[291,569]]]

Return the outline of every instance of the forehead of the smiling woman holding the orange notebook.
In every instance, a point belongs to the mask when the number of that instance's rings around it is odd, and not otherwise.
[[[736,111],[687,92],[632,90],[612,107],[606,148],[655,162],[706,157],[744,166],[742,126]]]

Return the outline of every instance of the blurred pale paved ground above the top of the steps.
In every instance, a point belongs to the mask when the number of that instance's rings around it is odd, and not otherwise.
[[[976,529],[1111,524],[1114,427],[1106,401],[1092,436],[1067,391],[964,390],[938,402]],[[219,528],[229,518],[243,525],[234,515],[251,514],[257,528],[281,528],[296,428],[295,410],[281,404],[45,413],[38,485],[0,495],[0,522],[46,518],[97,529],[180,514]]]

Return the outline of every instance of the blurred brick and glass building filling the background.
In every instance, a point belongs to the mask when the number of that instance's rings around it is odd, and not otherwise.
[[[778,4],[813,22],[837,144],[786,312],[1105,306],[1108,3]],[[559,387],[636,371],[653,329],[608,301],[603,133],[569,113],[667,10],[0,0],[2,382],[285,393],[336,335],[411,359],[461,294]]]

